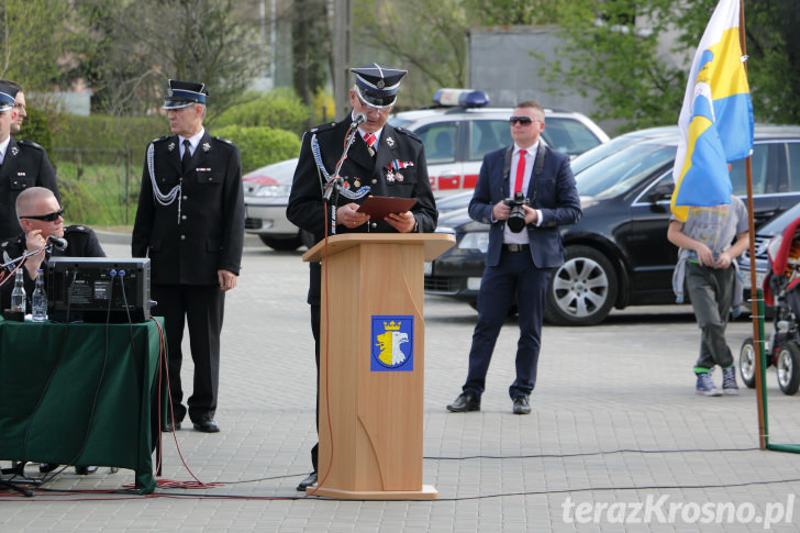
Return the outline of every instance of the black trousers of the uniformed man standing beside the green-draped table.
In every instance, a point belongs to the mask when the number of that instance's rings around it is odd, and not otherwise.
[[[189,324],[189,346],[195,362],[192,395],[189,397],[189,418],[199,421],[216,412],[220,388],[220,331],[225,293],[218,286],[154,285],[153,299],[158,302],[153,314],[164,317],[167,336],[169,392],[175,420],[181,421],[187,409],[180,381],[184,360],[181,343],[184,327]]]

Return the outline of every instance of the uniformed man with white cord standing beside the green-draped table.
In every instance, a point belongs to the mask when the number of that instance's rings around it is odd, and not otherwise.
[[[244,242],[244,197],[238,148],[204,130],[203,84],[169,80],[163,109],[174,135],[147,146],[134,257],[149,257],[155,314],[164,317],[174,419],[180,429],[187,408],[180,381],[184,325],[189,324],[195,380],[188,400],[193,426],[215,433],[220,331],[225,291],[236,287]]]

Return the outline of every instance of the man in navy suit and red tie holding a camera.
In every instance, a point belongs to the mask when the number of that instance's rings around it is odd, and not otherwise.
[[[522,102],[510,119],[514,145],[484,156],[469,215],[489,230],[489,251],[478,293],[478,323],[469,351],[469,373],[463,392],[447,406],[453,412],[480,410],[500,327],[516,297],[520,341],[516,379],[509,388],[514,414],[529,414],[536,384],[542,319],[553,269],[564,263],[558,226],[580,218],[580,200],[569,157],[544,146],[544,109]],[[524,200],[509,206],[505,200]],[[524,216],[524,220],[523,220]]]

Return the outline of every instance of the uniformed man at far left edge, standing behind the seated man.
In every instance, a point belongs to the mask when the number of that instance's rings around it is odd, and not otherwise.
[[[14,204],[23,190],[46,187],[59,200],[56,174],[44,148],[11,136],[12,129],[19,131],[14,108],[16,93],[16,88],[0,84],[0,238],[15,236],[22,231]]]

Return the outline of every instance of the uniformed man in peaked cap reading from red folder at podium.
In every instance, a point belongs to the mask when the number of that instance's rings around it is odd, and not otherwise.
[[[351,69],[355,85],[349,91],[353,111],[340,122],[322,124],[303,135],[300,158],[292,181],[288,219],[312,233],[314,242],[330,235],[334,227],[332,210],[326,208],[325,193],[335,207],[335,233],[430,233],[436,229],[436,204],[427,177],[422,141],[403,127],[392,127],[387,119],[397,101],[405,70],[373,64]],[[345,143],[352,138],[346,154]],[[338,168],[340,162],[345,157]],[[334,187],[338,180],[336,191]],[[368,196],[415,198],[410,211],[389,214],[385,220],[370,220],[358,212]],[[310,263],[308,302],[311,306],[311,331],[316,358],[316,409],[319,425],[320,370],[320,295],[321,267]],[[319,429],[319,427],[318,427]],[[297,489],[304,491],[316,484],[318,445],[311,449],[313,471]]]

